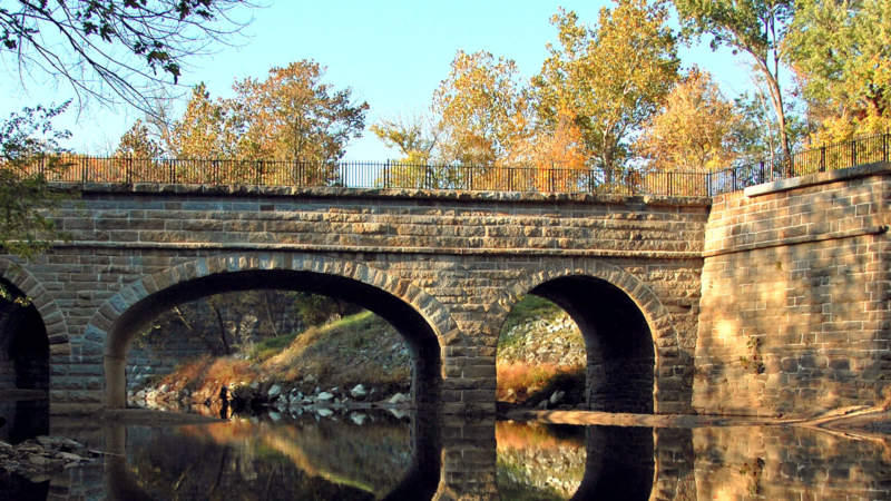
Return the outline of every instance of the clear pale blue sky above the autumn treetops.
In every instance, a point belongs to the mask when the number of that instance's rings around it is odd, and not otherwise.
[[[546,43],[556,29],[549,18],[562,6],[594,23],[605,1],[344,1],[278,0],[253,11],[247,36],[233,47],[218,47],[210,57],[195,58],[177,94],[205,81],[213,97],[227,96],[235,79],[264,78],[270,68],[300,59],[327,67],[326,81],[350,87],[356,100],[371,106],[366,125],[381,118],[411,116],[430,105],[433,89],[449,71],[458,49],[488,50],[517,61],[525,77],[541,68]],[[685,67],[697,63],[712,71],[724,92],[735,96],[751,86],[745,62],[705,46],[682,48]],[[0,80],[0,114],[22,106],[60,102],[71,97],[66,85],[28,82],[22,89],[8,63]],[[180,104],[177,111],[184,107]],[[74,134],[70,147],[91,154],[112,151],[120,135],[141,117],[138,110],[89,105],[68,112],[59,124]],[[347,159],[378,160],[395,156],[366,132],[347,147]]]

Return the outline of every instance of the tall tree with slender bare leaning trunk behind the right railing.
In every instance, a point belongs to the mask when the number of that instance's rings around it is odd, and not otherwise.
[[[712,48],[727,45],[734,53],[747,55],[767,89],[776,115],[780,147],[791,171],[792,147],[786,105],[781,85],[782,53],[789,22],[794,13],[792,0],[674,0],[684,29],[693,35],[712,36]]]

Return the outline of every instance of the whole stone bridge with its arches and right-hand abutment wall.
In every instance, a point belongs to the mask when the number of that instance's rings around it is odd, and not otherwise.
[[[590,409],[874,403],[891,369],[890,181],[883,164],[714,200],[86,185],[53,216],[70,240],[0,258],[32,299],[0,315],[0,387],[48,386],[55,413],[121,407],[128,343],[155,315],[278,288],[389,321],[415,401],[447,414],[495,411],[498,333],[526,294],[579,325]],[[32,363],[47,345],[48,375]]]

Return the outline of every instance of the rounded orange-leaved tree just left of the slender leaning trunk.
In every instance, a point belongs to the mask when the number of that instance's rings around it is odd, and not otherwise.
[[[635,149],[658,170],[704,171],[728,167],[740,154],[744,117],[697,68],[668,94]]]

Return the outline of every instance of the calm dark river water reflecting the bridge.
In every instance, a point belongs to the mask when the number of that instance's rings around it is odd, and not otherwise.
[[[16,419],[0,439],[41,425]],[[891,438],[802,428],[571,426],[370,411],[49,425],[108,454],[38,482],[0,474],[0,498],[891,499]]]

